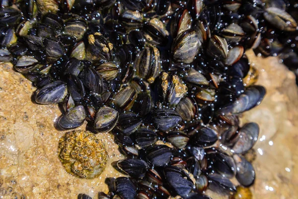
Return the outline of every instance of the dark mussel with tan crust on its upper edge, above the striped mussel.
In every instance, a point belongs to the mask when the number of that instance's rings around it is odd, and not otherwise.
[[[168,42],[168,31],[164,23],[158,18],[152,18],[145,22],[143,35],[146,40],[153,45],[165,46]]]

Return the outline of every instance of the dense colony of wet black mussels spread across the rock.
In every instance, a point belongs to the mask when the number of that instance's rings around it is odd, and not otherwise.
[[[239,114],[266,90],[245,50],[280,55],[298,75],[295,0],[0,2],[0,61],[33,82],[37,103],[63,107],[59,128],[87,120],[126,155],[117,167],[129,178],[99,199],[209,199],[206,189],[251,197],[259,127],[240,127]],[[77,156],[69,151],[60,158]],[[92,158],[104,165],[103,156]]]

